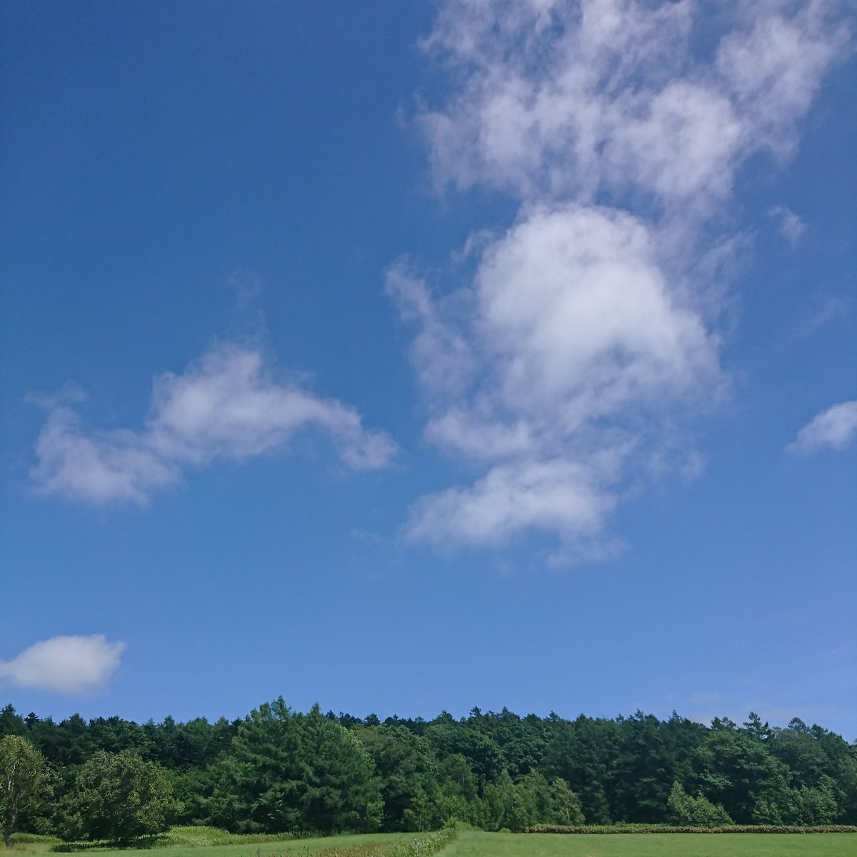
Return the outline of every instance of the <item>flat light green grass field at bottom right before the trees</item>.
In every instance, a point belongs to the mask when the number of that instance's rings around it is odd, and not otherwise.
[[[463,832],[442,857],[847,857],[857,833],[563,836]]]

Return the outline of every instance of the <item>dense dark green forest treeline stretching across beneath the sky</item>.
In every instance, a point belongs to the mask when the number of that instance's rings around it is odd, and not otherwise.
[[[304,714],[278,699],[231,722],[138,724],[54,722],[7,706],[0,740],[7,735],[32,745],[51,773],[17,829],[65,838],[121,838],[121,822],[107,818],[121,803],[116,784],[139,790],[144,781],[157,824],[236,833],[434,830],[454,821],[488,830],[857,824],[857,745],[798,719],[771,728],[755,714],[742,726],[506,709],[381,722],[318,706]],[[114,796],[99,795],[108,786]]]

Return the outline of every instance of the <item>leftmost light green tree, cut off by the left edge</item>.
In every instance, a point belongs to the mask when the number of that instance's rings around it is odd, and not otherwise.
[[[21,735],[0,740],[0,832],[9,848],[9,837],[21,817],[50,794],[51,775],[45,757]]]

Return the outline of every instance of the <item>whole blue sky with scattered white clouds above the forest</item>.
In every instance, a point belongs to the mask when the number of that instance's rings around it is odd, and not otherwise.
[[[3,700],[857,739],[847,13],[6,3]]]

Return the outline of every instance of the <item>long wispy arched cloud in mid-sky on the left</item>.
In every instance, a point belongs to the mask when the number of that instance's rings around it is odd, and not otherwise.
[[[353,408],[278,381],[260,350],[241,345],[215,345],[182,373],[159,376],[151,410],[142,430],[87,432],[72,406],[52,403],[32,471],[39,493],[145,503],[189,466],[274,452],[308,430],[327,435],[351,470],[384,467],[395,454],[393,440],[364,428]]]

